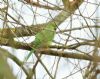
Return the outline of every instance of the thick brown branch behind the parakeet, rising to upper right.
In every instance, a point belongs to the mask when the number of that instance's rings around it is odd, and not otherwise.
[[[68,18],[70,15],[72,15],[78,7],[74,6],[80,6],[82,4],[83,0],[79,1],[79,3],[75,3],[74,5],[70,6],[67,10],[62,10],[57,16],[54,18],[52,17],[52,20],[49,21],[48,23],[53,23],[59,26],[66,18]],[[17,22],[19,25],[22,25],[21,27],[15,27],[15,28],[10,28],[11,29],[11,34],[10,36],[12,37],[23,37],[23,36],[32,36],[35,35],[37,32],[45,28],[48,23],[44,24],[37,24],[37,25],[31,25],[31,26],[25,26],[18,22],[14,17],[12,17],[10,14],[7,14],[9,17],[11,17],[15,22]],[[2,31],[4,34],[2,34]],[[3,28],[0,29],[0,36],[7,37],[8,34],[6,33],[8,29]]]

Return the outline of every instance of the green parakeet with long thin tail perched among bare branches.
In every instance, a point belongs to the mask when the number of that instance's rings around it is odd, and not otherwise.
[[[35,36],[35,41],[33,42],[34,48],[28,54],[26,60],[35,52],[38,48],[47,48],[55,35],[57,25],[55,23],[48,23],[47,26]]]

